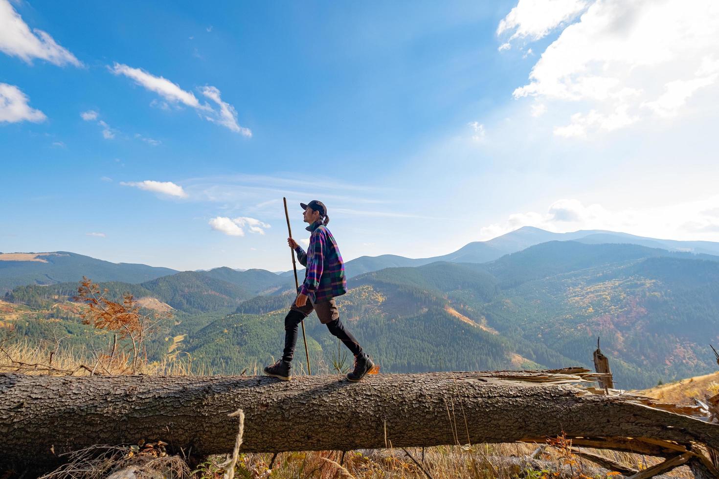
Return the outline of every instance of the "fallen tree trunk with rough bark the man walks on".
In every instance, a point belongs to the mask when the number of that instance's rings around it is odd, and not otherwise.
[[[561,374],[559,384],[536,383],[541,374],[551,379],[553,372],[380,374],[359,383],[340,376],[0,374],[0,462],[52,462],[89,445],[155,439],[174,450],[229,452],[237,420],[228,414],[237,409],[245,414],[244,452],[541,441],[562,431],[609,441],[646,437],[655,440],[646,447],[665,456],[676,447],[661,441],[719,448],[719,425],[591,394],[561,384]]]

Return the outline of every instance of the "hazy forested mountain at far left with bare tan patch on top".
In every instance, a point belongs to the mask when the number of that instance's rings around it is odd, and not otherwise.
[[[0,254],[0,294],[25,284],[73,282],[83,276],[96,281],[141,283],[176,272],[146,264],[111,263],[68,251],[6,253]]]

